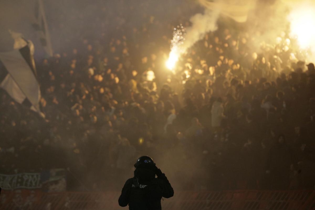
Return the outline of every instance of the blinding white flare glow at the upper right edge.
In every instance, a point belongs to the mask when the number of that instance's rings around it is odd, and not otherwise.
[[[289,15],[291,35],[297,38],[301,48],[315,45],[315,6],[303,4],[294,8]]]

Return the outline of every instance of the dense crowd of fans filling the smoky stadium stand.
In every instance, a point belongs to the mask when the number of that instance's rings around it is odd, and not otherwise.
[[[75,47],[37,62],[45,118],[0,89],[1,173],[66,168],[69,189],[112,190],[149,155],[176,189],[314,188],[315,68],[285,34],[257,53],[256,31],[219,22],[172,72],[174,26],[144,13],[131,27],[137,9],[120,7],[98,8],[107,21],[72,29]]]

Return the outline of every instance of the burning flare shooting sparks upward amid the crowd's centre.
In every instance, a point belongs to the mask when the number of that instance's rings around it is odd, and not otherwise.
[[[171,52],[169,53],[169,59],[166,61],[166,67],[171,71],[174,71],[174,67],[179,60],[180,54],[184,53],[180,48],[180,45],[185,41],[184,35],[185,29],[182,24],[177,26],[177,28],[174,28],[173,39],[171,40],[170,45]]]

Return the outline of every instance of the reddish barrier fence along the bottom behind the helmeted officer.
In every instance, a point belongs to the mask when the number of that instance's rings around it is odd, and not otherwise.
[[[3,210],[120,210],[120,192],[43,193],[40,190],[3,191]],[[175,191],[161,201],[163,210],[311,210],[314,190]]]

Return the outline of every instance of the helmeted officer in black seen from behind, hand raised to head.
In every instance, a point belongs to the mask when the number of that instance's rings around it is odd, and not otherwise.
[[[174,196],[169,180],[155,166],[151,157],[139,157],[134,174],[134,178],[128,179],[123,186],[118,199],[119,206],[129,205],[129,210],[161,210],[161,198]]]

